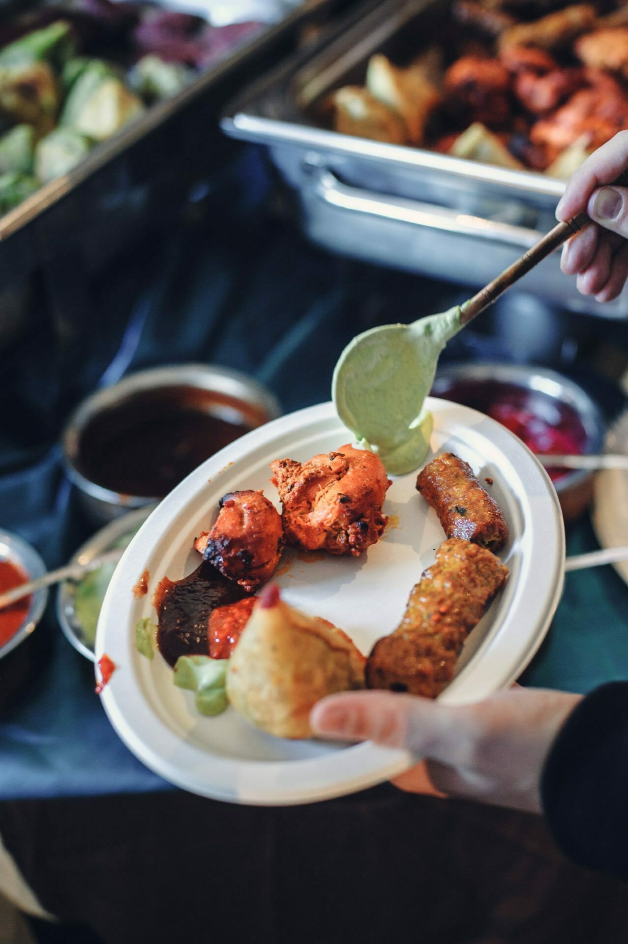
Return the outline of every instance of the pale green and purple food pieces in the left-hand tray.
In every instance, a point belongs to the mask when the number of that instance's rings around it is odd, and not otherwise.
[[[257,22],[213,26],[154,4],[74,0],[0,23],[0,213],[175,95]]]

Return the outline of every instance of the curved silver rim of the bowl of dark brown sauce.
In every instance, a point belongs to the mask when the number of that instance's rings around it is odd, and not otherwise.
[[[218,382],[216,383],[216,380]],[[88,479],[76,462],[79,455],[80,435],[88,423],[101,411],[111,409],[128,396],[155,388],[190,386],[201,390],[224,393],[251,405],[259,405],[268,420],[281,414],[276,396],[266,390],[256,379],[248,377],[230,367],[218,364],[182,363],[148,367],[135,371],[116,383],[85,397],[70,417],[61,434],[63,464],[68,478],[86,495],[119,508],[139,509],[155,501],[156,496],[123,495],[105,485]]]

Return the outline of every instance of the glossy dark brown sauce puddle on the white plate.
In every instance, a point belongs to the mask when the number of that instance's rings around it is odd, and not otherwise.
[[[238,583],[228,581],[208,562],[180,581],[164,577],[153,602],[159,616],[157,645],[168,665],[174,666],[180,655],[209,655],[212,611],[247,596]]]

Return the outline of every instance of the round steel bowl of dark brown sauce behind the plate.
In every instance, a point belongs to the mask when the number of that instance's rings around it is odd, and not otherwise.
[[[93,524],[166,496],[239,436],[280,415],[254,379],[214,364],[129,374],[88,396],[63,433],[65,467]]]

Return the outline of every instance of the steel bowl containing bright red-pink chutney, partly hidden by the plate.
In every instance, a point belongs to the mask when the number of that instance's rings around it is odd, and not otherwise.
[[[603,451],[605,424],[593,399],[573,380],[546,367],[515,363],[443,366],[433,396],[453,400],[496,419],[539,454]],[[566,521],[586,509],[593,475],[548,468]]]

